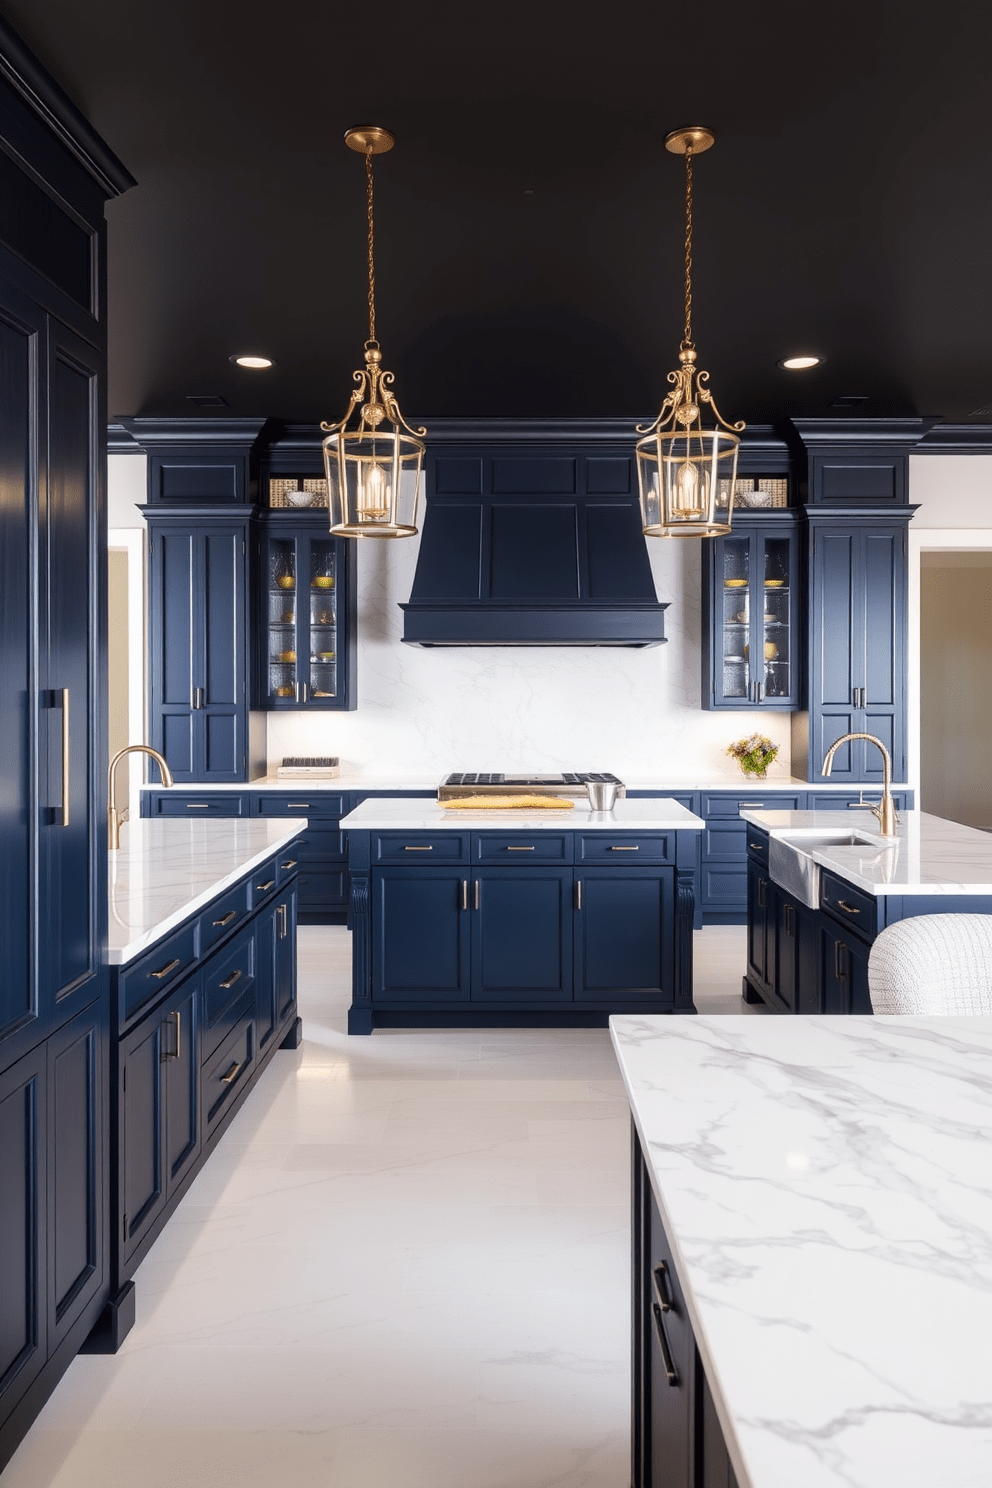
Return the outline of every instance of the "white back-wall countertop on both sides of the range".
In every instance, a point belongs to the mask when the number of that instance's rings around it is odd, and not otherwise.
[[[452,766],[454,768],[454,766]],[[543,768],[543,766],[538,766]],[[564,766],[549,765],[549,769],[559,769]],[[403,774],[402,771],[369,771],[367,774],[357,769],[342,769],[339,775],[333,780],[327,780],[324,775],[297,775],[292,780],[280,777],[275,772],[271,775],[259,775],[256,780],[247,781],[222,781],[220,784],[205,784],[205,783],[189,783],[183,781],[178,790],[437,790],[439,783],[449,774],[446,769],[437,771],[419,771],[413,774]],[[628,790],[745,790],[745,792],[772,792],[772,790],[790,790],[790,792],[809,792],[815,790],[817,795],[825,793],[849,793],[852,789],[864,789],[870,796],[880,789],[872,783],[858,787],[849,783],[834,783],[830,780],[796,780],[793,775],[769,775],[767,780],[744,780],[739,772],[726,775],[712,775],[698,772],[695,775],[674,775],[674,774],[657,774],[657,775],[620,775],[623,784]],[[143,790],[162,790],[164,787],[159,781],[150,781]],[[909,786],[894,786],[894,790],[909,790]]]

